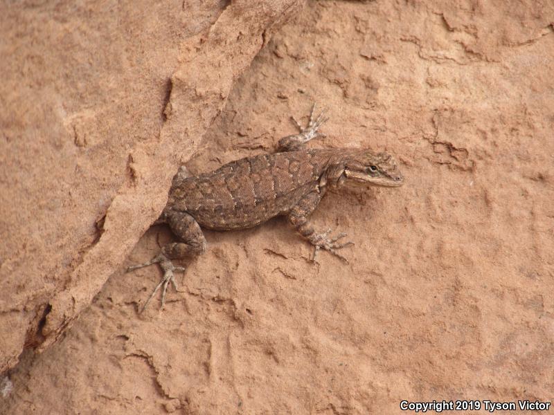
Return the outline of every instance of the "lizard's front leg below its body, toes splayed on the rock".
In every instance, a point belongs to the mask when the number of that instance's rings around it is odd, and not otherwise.
[[[319,201],[321,201],[321,197],[323,197],[323,192],[324,191],[314,191],[304,196],[289,212],[289,222],[292,223],[296,231],[301,234],[302,237],[307,239],[307,241],[314,246],[315,249],[312,261],[316,260],[317,252],[319,252],[320,249],[324,249],[348,264],[348,259],[337,252],[338,249],[353,245],[350,241],[343,243],[338,242],[339,239],[346,237],[346,233],[338,234],[337,237],[332,238],[330,237],[330,229],[325,232],[316,232],[312,223],[307,219],[307,216],[319,205]]]

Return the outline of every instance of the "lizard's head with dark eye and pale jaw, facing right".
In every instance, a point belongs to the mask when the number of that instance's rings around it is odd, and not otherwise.
[[[346,159],[344,175],[347,181],[372,185],[397,187],[404,179],[390,154],[373,154],[368,150],[352,154]]]

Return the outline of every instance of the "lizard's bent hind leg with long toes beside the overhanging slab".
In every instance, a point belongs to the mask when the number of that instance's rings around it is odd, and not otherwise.
[[[146,300],[141,312],[148,306],[148,303],[150,303],[150,300],[154,297],[154,295],[156,295],[160,287],[162,287],[162,307],[166,302],[166,291],[168,289],[168,285],[171,283],[177,291],[177,284],[175,283],[173,272],[185,271],[186,268],[182,266],[174,266],[171,259],[182,259],[185,257],[201,255],[206,250],[206,238],[204,238],[204,234],[193,216],[190,216],[190,214],[186,212],[176,212],[171,210],[166,213],[165,220],[170,225],[172,232],[175,233],[181,241],[168,243],[161,249],[161,253],[152,258],[150,261],[145,262],[144,264],[129,266],[129,268],[127,268],[127,272],[129,272],[152,264],[160,264],[160,267],[163,270],[163,277],[161,281],[156,288],[154,288],[154,291],[152,291],[150,297]]]

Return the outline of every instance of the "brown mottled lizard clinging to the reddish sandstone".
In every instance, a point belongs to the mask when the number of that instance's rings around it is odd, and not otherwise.
[[[328,188],[345,183],[397,187],[404,179],[393,156],[368,149],[306,149],[305,143],[325,137],[319,131],[328,121],[325,110],[314,118],[315,104],[306,127],[293,117],[298,134],[278,141],[278,152],[231,161],[213,172],[192,176],[181,166],[172,180],[168,202],[154,224],[167,223],[179,241],[166,244],[156,257],[129,266],[127,272],[159,264],[163,277],[145,302],[142,311],[162,287],[161,307],[168,284],[177,291],[172,259],[201,255],[206,238],[201,228],[240,230],[260,225],[275,216],[287,216],[296,231],[314,246],[312,261],[320,249],[348,263],[337,252],[351,241],[341,242],[346,233],[332,237],[331,230],[318,232],[308,216],[319,205]]]

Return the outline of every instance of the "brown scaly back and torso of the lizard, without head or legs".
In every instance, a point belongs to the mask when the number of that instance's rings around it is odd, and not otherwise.
[[[309,149],[242,158],[175,183],[168,206],[188,212],[204,228],[256,226],[288,212],[315,190],[333,153]]]

